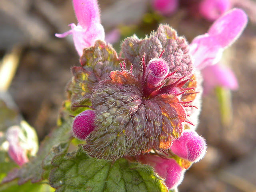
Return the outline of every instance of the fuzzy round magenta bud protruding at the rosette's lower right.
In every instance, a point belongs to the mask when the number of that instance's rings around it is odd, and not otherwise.
[[[172,152],[190,162],[198,162],[206,153],[206,142],[194,130],[184,130],[170,147]]]

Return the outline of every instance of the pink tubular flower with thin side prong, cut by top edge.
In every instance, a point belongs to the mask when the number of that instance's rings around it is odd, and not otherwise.
[[[82,56],[83,49],[93,46],[96,40],[104,40],[105,32],[100,24],[100,11],[96,0],[73,0],[77,26],[72,23],[71,30],[63,34],[55,34],[64,38],[72,34],[76,50]]]

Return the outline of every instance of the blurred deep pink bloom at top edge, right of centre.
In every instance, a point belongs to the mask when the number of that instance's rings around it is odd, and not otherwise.
[[[172,14],[178,8],[178,0],[152,0],[152,7],[163,15]]]

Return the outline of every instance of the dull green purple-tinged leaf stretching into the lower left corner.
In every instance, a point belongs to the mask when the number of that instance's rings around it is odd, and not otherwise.
[[[49,162],[52,160],[51,158],[56,155],[52,155],[52,151],[56,152],[56,148],[52,148],[54,146],[61,148],[59,152],[66,150],[64,146],[66,146],[66,144],[72,139],[71,124],[72,118],[69,118],[67,122],[64,122],[60,127],[54,129],[52,133],[46,136],[40,145],[37,156],[31,158],[30,162],[22,166],[22,168],[15,168],[12,170],[8,176],[4,178],[3,183],[10,182],[17,178],[19,178],[18,184],[24,184],[28,180],[31,180],[32,183],[41,181],[43,173],[42,161],[44,160],[44,166],[49,164]]]

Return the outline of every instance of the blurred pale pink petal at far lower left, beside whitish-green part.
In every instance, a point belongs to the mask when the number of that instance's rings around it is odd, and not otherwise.
[[[22,148],[19,142],[20,128],[18,126],[13,126],[6,132],[6,138],[9,142],[8,154],[16,164],[22,166],[24,163],[28,162],[28,157],[26,155],[26,149]]]

